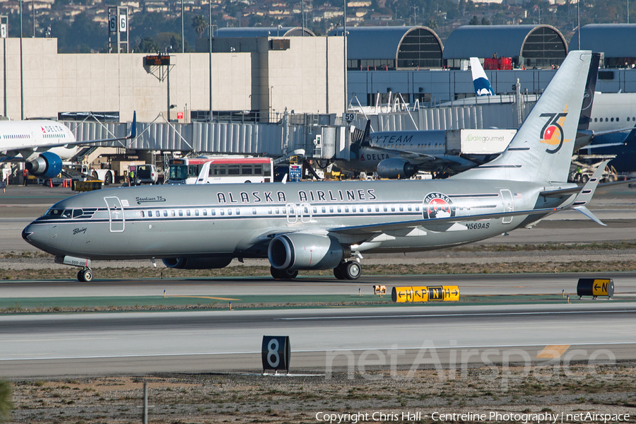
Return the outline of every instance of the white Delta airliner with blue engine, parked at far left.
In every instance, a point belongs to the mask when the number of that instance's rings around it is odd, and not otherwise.
[[[69,127],[56,121],[0,121],[0,162],[25,160],[31,175],[45,179],[56,177],[62,162],[72,158],[78,146],[134,139],[136,127],[136,114],[133,114],[131,131],[125,137],[77,141]]]

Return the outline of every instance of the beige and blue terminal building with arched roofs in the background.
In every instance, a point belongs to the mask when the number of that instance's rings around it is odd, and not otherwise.
[[[616,43],[617,34],[620,40]],[[0,114],[12,119],[102,113],[119,121],[137,111],[140,122],[160,114],[180,123],[238,117],[278,122],[285,112],[340,117],[345,105],[386,104],[396,95],[413,105],[473,96],[469,57],[507,57],[512,69],[486,70],[495,93],[541,93],[568,49],[550,25],[466,25],[445,45],[423,26],[347,28],[316,37],[302,28],[222,28],[197,40],[196,53],[171,53],[170,65],[147,54],[58,54],[54,38],[16,38],[0,45]],[[636,93],[636,62],[629,42],[636,25],[586,25],[584,49],[603,52],[597,90]],[[345,61],[346,56],[346,61]],[[211,81],[211,83],[210,83]],[[346,85],[346,87],[345,87]],[[346,98],[345,98],[346,95]],[[161,119],[160,119],[161,120]]]

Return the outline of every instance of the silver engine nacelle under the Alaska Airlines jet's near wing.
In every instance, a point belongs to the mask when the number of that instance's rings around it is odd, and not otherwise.
[[[267,257],[276,269],[332,269],[351,256],[351,249],[324,235],[295,232],[269,242]]]

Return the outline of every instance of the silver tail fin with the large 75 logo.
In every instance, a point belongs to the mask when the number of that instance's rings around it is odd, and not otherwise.
[[[574,50],[495,160],[457,178],[567,182],[592,54]]]

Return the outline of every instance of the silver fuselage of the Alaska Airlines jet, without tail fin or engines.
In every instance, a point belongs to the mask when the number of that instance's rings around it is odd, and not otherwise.
[[[122,187],[60,201],[23,236],[50,254],[88,259],[267,257],[273,235],[296,230],[335,237],[359,252],[420,251],[483,240],[544,216],[478,217],[485,213],[553,208],[569,199],[543,198],[544,189],[461,179]],[[337,232],[451,216],[466,219],[377,237]]]

